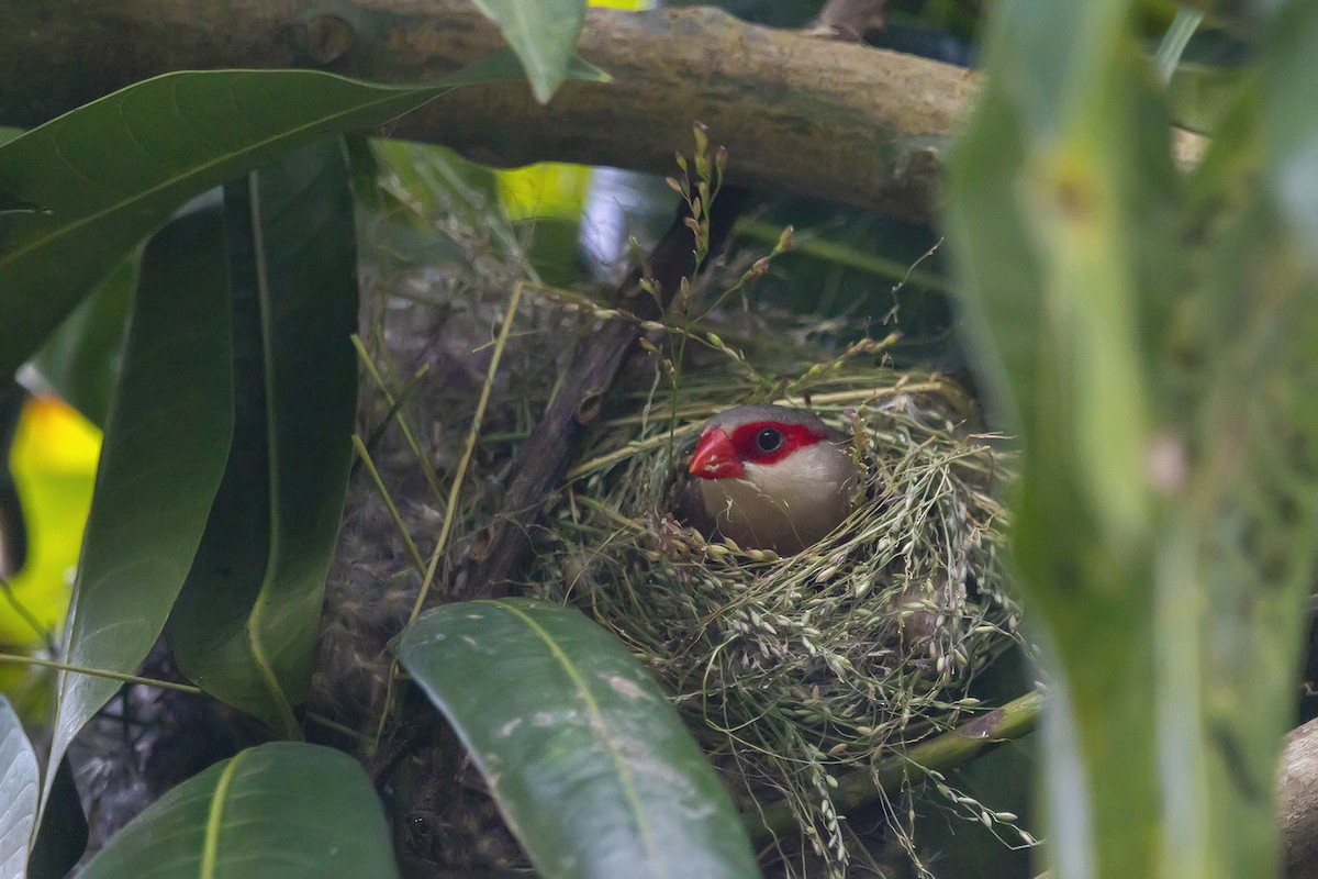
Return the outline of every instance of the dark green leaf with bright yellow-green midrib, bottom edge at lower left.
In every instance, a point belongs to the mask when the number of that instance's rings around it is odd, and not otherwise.
[[[328,747],[272,742],[216,763],[111,837],[82,879],[398,876],[370,780]]]

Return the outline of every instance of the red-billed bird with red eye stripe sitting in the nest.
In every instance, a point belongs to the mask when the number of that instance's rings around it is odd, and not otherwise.
[[[734,406],[700,428],[688,519],[747,550],[800,552],[851,511],[857,472],[846,440],[786,406]]]

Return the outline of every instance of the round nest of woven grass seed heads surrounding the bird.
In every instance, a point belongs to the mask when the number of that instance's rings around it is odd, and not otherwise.
[[[809,409],[850,438],[862,473],[834,534],[779,557],[673,517],[700,424],[738,391],[754,397],[726,370],[688,373],[680,397],[648,395],[594,438],[525,588],[613,630],[742,807],[786,799],[807,850],[840,871],[857,846],[834,808],[837,774],[966,720],[971,681],[1016,638],[1017,610],[998,557],[1002,465],[967,432],[960,387],[846,360],[801,373]]]

